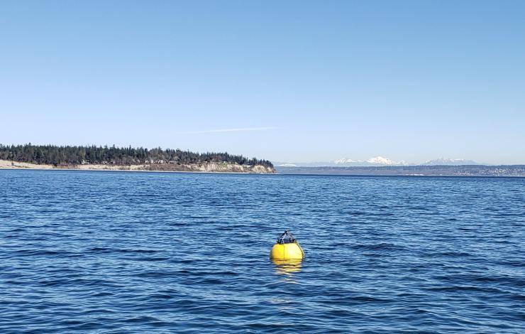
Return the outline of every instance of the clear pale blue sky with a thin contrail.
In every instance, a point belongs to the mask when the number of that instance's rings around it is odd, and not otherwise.
[[[0,1],[0,144],[525,163],[525,1]]]

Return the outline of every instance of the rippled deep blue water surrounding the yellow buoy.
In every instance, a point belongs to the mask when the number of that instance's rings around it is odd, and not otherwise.
[[[524,178],[0,171],[0,242],[1,333],[525,332]]]

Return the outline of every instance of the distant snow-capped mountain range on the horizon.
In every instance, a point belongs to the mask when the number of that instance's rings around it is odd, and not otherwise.
[[[437,158],[424,163],[408,163],[407,161],[393,161],[382,156],[375,156],[367,160],[353,160],[351,158],[340,158],[328,162],[313,163],[282,163],[274,162],[275,166],[280,167],[351,167],[351,166],[463,166],[463,165],[482,165],[473,160]]]

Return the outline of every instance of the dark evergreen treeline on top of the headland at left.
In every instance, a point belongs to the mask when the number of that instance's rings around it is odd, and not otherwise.
[[[0,144],[0,159],[50,165],[79,165],[85,163],[111,163],[133,165],[142,163],[238,163],[273,167],[267,160],[246,158],[228,153],[194,153],[179,149],[144,149],[143,147],[115,146],[55,146]]]

